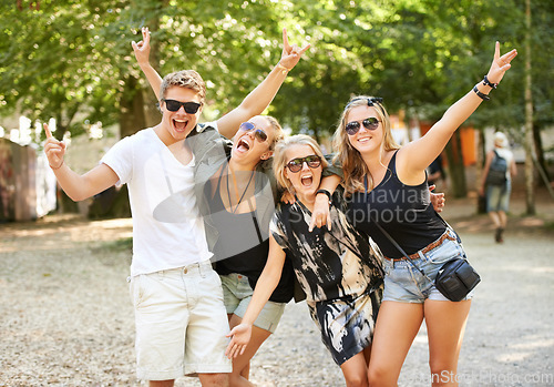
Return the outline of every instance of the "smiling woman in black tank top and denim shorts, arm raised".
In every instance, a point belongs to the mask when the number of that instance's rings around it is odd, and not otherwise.
[[[442,152],[454,131],[488,100],[517,52],[494,59],[483,82],[454,103],[421,139],[400,149],[382,100],[355,96],[335,133],[335,145],[350,200],[355,227],[378,241],[384,259],[384,292],[369,365],[369,384],[396,386],[411,343],[425,319],[432,385],[458,386],[458,357],[471,305],[448,301],[434,287],[440,266],[464,256],[458,235],[432,211],[425,167]],[[425,279],[384,237],[378,223],[424,267]]]

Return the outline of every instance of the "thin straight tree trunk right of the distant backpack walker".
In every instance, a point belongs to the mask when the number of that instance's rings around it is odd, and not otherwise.
[[[531,0],[525,1],[525,198],[527,215],[535,214],[533,175],[533,95],[531,83]]]

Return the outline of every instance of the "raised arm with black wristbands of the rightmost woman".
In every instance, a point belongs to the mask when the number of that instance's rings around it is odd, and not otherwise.
[[[442,119],[437,122],[421,139],[403,146],[397,156],[397,169],[400,180],[406,183],[418,183],[421,172],[442,152],[454,131],[479,108],[489,92],[500,83],[504,73],[511,68],[510,62],[517,55],[512,50],[500,55],[500,43],[496,42],[494,58],[486,73],[489,82],[482,81],[458,102],[450,106]],[[403,179],[408,176],[408,179]],[[410,177],[409,176],[414,176]]]

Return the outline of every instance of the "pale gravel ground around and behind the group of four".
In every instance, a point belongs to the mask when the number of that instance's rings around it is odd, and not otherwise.
[[[515,196],[500,245],[472,200],[449,200],[443,213],[482,277],[461,386],[554,386],[554,201],[538,196],[538,215],[522,217],[524,202]],[[134,374],[130,237],[130,220],[55,215],[0,225],[0,386],[145,386]],[[423,326],[400,386],[429,386],[428,368]],[[250,379],[268,387],[345,385],[304,303],[287,305]]]

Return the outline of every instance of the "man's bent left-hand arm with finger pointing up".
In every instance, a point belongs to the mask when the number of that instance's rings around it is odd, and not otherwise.
[[[48,163],[54,171],[62,190],[73,201],[85,200],[117,183],[117,174],[105,164],[100,164],[83,175],[73,172],[63,161],[65,143],[54,139],[47,124],[44,124],[44,132],[47,133],[44,153]]]

